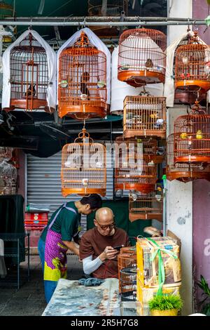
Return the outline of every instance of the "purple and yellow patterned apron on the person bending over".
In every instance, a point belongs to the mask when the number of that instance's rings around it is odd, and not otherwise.
[[[67,246],[62,241],[62,235],[59,232],[51,230],[53,223],[57,219],[59,212],[62,209],[67,209],[76,213],[71,207],[66,207],[66,203],[57,211],[55,218],[52,220],[48,227],[48,233],[45,240],[45,267],[44,267],[44,280],[47,281],[58,281],[60,278],[66,278],[67,276],[67,258],[66,251]],[[78,235],[78,231],[73,235]]]

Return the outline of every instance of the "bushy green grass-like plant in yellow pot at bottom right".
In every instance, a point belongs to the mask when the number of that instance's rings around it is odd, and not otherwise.
[[[155,296],[148,306],[152,316],[177,316],[183,301],[179,295]]]

